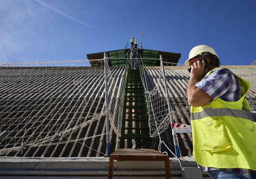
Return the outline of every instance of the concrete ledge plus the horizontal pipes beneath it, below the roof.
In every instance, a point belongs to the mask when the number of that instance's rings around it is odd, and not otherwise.
[[[108,157],[0,157],[0,178],[106,178]],[[182,179],[182,167],[197,167],[193,157],[182,157],[180,162],[170,158],[172,179]],[[165,164],[162,161],[115,161],[114,177],[119,179],[165,178]],[[205,173],[203,173],[203,176]],[[207,175],[205,175],[206,178]],[[204,179],[206,179],[204,177]],[[209,178],[210,179],[210,178]]]

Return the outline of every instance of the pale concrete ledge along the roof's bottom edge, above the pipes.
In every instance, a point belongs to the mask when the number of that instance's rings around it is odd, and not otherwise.
[[[197,166],[193,157],[180,158],[182,166]],[[67,158],[35,158],[35,157],[0,157],[0,170],[108,170],[108,157],[67,157]],[[115,161],[114,168],[119,170],[145,169],[164,170],[161,161]],[[176,158],[170,158],[171,170],[181,170]]]

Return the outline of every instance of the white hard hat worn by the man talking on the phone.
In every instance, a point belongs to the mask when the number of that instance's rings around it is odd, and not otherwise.
[[[185,62],[185,66],[189,66],[189,61],[194,57],[196,57],[197,55],[208,55],[208,54],[216,55],[216,57],[219,58],[215,50],[208,45],[198,45],[193,47],[189,52],[188,59]]]

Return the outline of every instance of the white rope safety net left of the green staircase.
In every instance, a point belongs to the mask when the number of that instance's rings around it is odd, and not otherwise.
[[[73,66],[77,62],[2,63],[0,155],[70,157],[90,156],[87,153],[92,151],[96,151],[96,156],[104,154],[106,113],[111,125],[118,125],[115,122],[119,121],[121,92],[117,85],[123,70],[113,71],[108,66],[106,111],[102,61],[91,67]],[[120,134],[117,127],[113,130]],[[93,144],[96,140],[100,142]]]

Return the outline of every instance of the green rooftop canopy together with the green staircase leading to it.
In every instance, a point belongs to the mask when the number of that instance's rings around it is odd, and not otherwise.
[[[116,148],[153,148],[154,141],[150,138],[150,114],[147,94],[147,81],[144,66],[160,66],[160,55],[163,65],[176,66],[180,55],[172,52],[139,49],[141,59],[137,61],[137,70],[132,70],[130,58],[126,56],[128,49],[105,52],[108,66],[124,66],[122,81],[122,113],[120,129],[122,137],[117,138]],[[104,52],[87,54],[91,66],[103,66]],[[137,145],[138,146],[138,145]],[[112,146],[113,147],[113,146]]]

